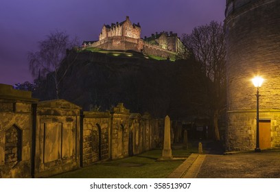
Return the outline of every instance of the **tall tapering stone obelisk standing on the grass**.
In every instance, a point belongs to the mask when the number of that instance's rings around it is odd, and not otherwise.
[[[164,141],[163,141],[163,159],[172,159],[172,149],[170,141],[170,117],[165,117],[164,121]]]

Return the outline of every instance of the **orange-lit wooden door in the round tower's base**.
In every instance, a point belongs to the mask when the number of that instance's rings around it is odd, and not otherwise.
[[[270,120],[259,120],[259,148],[268,149],[271,147]]]

